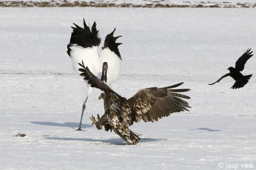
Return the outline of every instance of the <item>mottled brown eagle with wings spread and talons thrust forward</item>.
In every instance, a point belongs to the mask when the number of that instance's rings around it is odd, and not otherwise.
[[[159,118],[168,117],[171,113],[188,111],[187,108],[190,108],[189,104],[181,99],[190,99],[190,97],[177,93],[188,92],[190,89],[173,89],[182,83],[162,88],[141,89],[130,99],[126,99],[93,75],[90,69],[84,66],[83,61],[79,65],[81,66],[79,71],[82,72],[80,75],[84,76],[84,80],[88,81],[91,87],[104,91],[99,99],[104,99],[105,113],[102,117],[98,115],[98,121],[92,116],[92,124],[95,124],[97,129],[102,129],[104,126],[106,131],[113,130],[131,145],[136,145],[140,140],[139,134],[128,128],[133,122],[140,122],[141,119],[144,122],[155,122]]]

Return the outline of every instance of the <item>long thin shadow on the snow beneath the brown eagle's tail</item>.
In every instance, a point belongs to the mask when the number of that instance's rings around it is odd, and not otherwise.
[[[123,139],[90,139],[90,138],[61,138],[61,137],[47,137],[44,139],[49,140],[63,140],[63,141],[88,141],[88,142],[100,142],[100,143],[93,143],[95,145],[100,145],[101,143],[105,143],[108,145],[129,145],[129,143],[126,143]],[[145,142],[154,142],[154,141],[163,141],[167,139],[154,139],[154,138],[141,138],[139,143],[145,143]]]

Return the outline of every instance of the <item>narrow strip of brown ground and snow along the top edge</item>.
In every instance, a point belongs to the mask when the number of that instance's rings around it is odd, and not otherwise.
[[[255,0],[2,0],[2,7],[255,8]]]

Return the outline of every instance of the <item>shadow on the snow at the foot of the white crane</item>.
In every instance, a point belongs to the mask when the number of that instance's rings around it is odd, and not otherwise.
[[[76,122],[63,122],[63,123],[56,123],[56,122],[30,122],[31,124],[37,125],[51,125],[51,126],[60,126],[60,127],[71,127],[77,128],[79,123]],[[82,124],[82,129],[92,127],[92,125]]]

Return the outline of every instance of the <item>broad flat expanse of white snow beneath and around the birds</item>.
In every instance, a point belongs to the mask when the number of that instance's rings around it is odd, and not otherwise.
[[[255,16],[223,8],[1,8],[0,169],[255,169],[255,56],[243,89],[230,89],[232,78],[207,85],[247,48],[256,53]],[[66,51],[70,26],[83,18],[97,22],[102,41],[114,27],[122,35],[116,92],[130,97],[184,81],[191,110],[132,125],[142,139],[131,146],[92,127],[89,117],[103,113],[94,90],[84,131],[76,131],[84,84]]]

